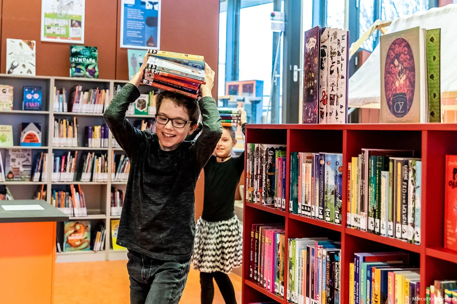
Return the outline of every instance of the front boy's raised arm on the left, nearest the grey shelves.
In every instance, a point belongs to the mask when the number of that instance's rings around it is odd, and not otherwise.
[[[140,68],[142,71],[142,68]],[[130,103],[133,103],[140,96],[138,91],[141,75],[139,72],[127,83],[112,99],[108,108],[106,108],[103,118],[110,128],[117,143],[122,147],[125,153],[132,157],[133,151],[142,142],[143,133],[133,127],[125,118]]]

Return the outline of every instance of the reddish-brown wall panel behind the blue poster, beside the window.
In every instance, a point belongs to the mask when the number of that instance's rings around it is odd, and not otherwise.
[[[121,0],[118,0],[117,31],[121,30]],[[216,72],[213,96],[217,96],[219,0],[162,1],[160,49],[202,55]],[[117,35],[116,79],[128,80],[127,49],[120,48]]]

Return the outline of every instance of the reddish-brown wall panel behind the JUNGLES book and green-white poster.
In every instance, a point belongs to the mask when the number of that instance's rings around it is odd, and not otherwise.
[[[3,1],[0,72],[5,73],[6,38],[37,41],[37,75],[69,76],[69,43],[42,42],[41,1]],[[85,2],[86,46],[98,48],[99,78],[113,79],[116,71],[117,0]]]

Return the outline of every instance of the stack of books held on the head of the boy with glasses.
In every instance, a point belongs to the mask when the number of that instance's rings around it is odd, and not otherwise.
[[[148,52],[141,83],[197,99],[200,85],[205,84],[203,56],[158,50]]]

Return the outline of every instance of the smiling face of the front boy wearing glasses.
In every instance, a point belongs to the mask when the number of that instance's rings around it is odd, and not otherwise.
[[[169,98],[164,98],[162,100],[157,114],[164,115],[169,119],[190,120],[186,108],[176,105],[176,103]],[[160,149],[164,151],[176,149],[184,141],[186,136],[192,134],[196,128],[197,124],[191,126],[191,123],[186,124],[184,128],[176,128],[171,123],[171,120],[168,120],[166,124],[156,123],[155,131],[159,138]]]

